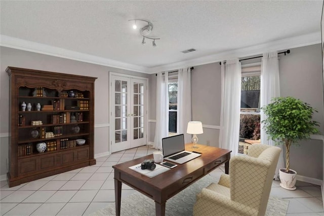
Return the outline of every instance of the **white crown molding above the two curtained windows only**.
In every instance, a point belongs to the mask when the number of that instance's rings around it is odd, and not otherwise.
[[[154,74],[159,71],[175,70],[184,67],[220,62],[226,59],[259,55],[266,51],[292,49],[292,48],[304,47],[304,46],[320,44],[320,43],[321,43],[321,34],[320,31],[317,31],[309,34],[303,34],[296,37],[271,41],[264,44],[251,46],[251,47],[230,50],[227,52],[221,52],[214,55],[204,56],[204,57],[195,58],[187,61],[180,61],[173,64],[151,67],[149,68],[149,72],[150,74]]]

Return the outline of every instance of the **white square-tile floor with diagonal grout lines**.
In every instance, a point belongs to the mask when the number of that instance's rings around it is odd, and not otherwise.
[[[6,181],[0,182],[1,215],[89,215],[114,202],[112,165],[151,154],[154,149],[142,146],[97,158],[97,164],[69,172],[53,175],[37,181],[8,188]],[[220,167],[211,175],[215,182],[223,173]],[[297,182],[297,190],[280,188],[273,181],[271,194],[288,199],[287,215],[322,215],[324,210],[320,187]],[[134,190],[123,185],[122,197]]]

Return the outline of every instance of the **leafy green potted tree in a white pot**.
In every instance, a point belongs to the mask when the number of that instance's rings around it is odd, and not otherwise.
[[[319,133],[315,126],[319,123],[312,120],[314,112],[310,104],[294,97],[276,97],[272,103],[262,107],[265,114],[263,128],[276,145],[286,147],[286,169],[279,169],[279,177],[282,188],[295,190],[296,174],[290,169],[290,147],[298,146],[301,139],[309,139],[310,134]]]

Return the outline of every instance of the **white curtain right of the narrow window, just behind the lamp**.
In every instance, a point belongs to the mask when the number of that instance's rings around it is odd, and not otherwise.
[[[191,141],[187,134],[187,125],[191,121],[191,69],[181,68],[178,72],[178,108],[177,108],[177,133],[184,134],[184,141]]]

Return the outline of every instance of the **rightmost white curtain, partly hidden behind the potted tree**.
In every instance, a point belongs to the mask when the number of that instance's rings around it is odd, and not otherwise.
[[[261,99],[260,107],[271,103],[271,99],[280,96],[280,83],[279,83],[279,61],[277,52],[266,52],[263,53],[261,62]],[[265,115],[261,110],[261,122],[265,119]],[[261,143],[274,146],[274,142],[268,139],[263,124],[261,123]],[[278,179],[279,168],[284,168],[284,157],[282,151],[279,157],[277,168],[275,171],[274,178]]]

